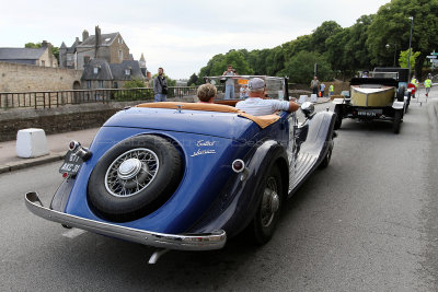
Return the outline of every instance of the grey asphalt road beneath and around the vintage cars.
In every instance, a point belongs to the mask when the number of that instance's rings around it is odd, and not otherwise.
[[[1,174],[0,290],[437,291],[438,132],[425,104],[410,109],[397,136],[390,122],[344,120],[331,165],[286,203],[265,246],[233,241],[157,265],[149,247],[26,210],[28,190],[49,203],[60,163]]]

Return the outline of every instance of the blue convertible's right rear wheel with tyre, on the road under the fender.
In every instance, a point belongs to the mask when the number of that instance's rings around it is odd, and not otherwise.
[[[283,182],[276,165],[270,168],[263,179],[258,191],[263,194],[252,221],[252,231],[255,243],[265,244],[273,237],[283,205]]]

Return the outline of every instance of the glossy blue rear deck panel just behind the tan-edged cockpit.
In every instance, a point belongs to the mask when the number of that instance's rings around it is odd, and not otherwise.
[[[249,139],[261,129],[235,113],[131,107],[111,117],[104,127],[128,127]]]

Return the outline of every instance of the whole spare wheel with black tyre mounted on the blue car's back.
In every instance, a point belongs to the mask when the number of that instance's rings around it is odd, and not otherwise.
[[[145,217],[172,196],[182,168],[178,151],[162,137],[124,140],[94,167],[88,185],[90,205],[102,218],[115,222]]]

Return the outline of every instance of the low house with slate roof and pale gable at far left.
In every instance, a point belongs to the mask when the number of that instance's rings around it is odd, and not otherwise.
[[[0,48],[0,61],[58,67],[58,60],[51,52],[51,44],[43,40],[41,48]]]

